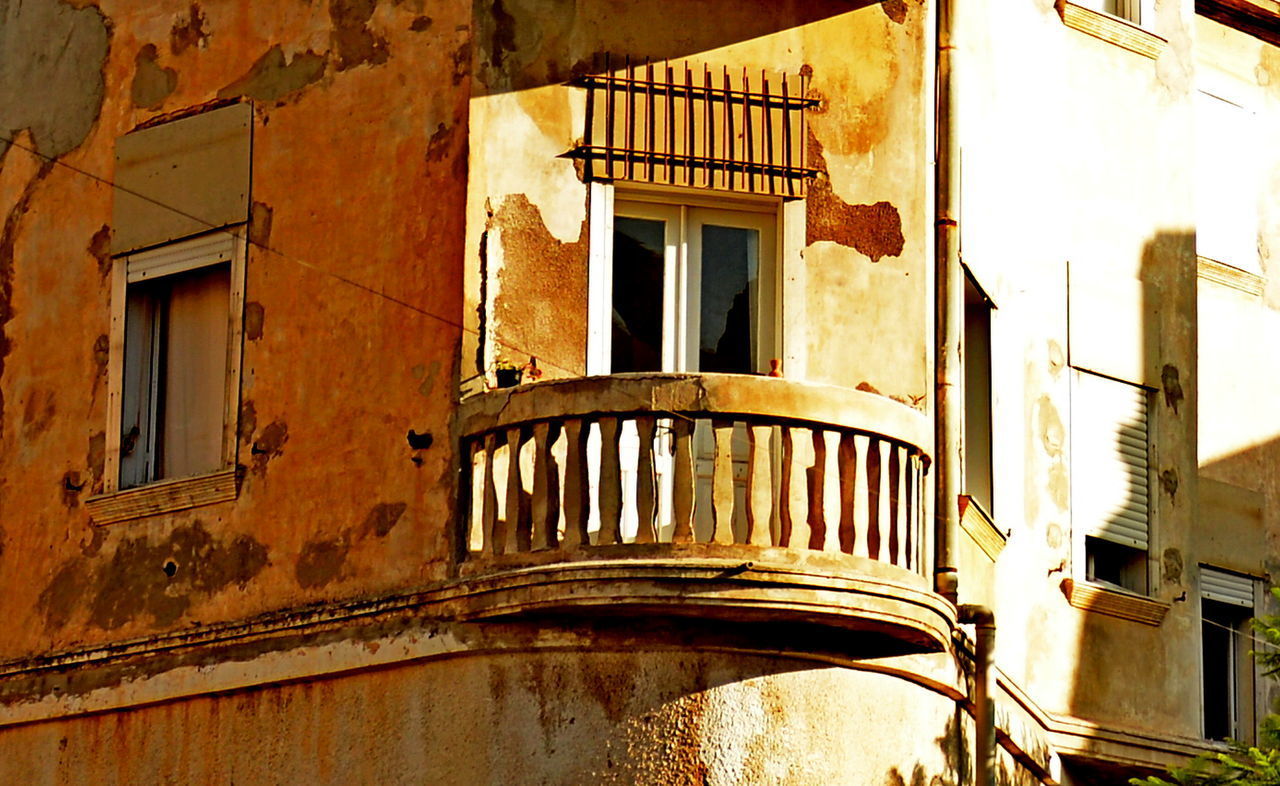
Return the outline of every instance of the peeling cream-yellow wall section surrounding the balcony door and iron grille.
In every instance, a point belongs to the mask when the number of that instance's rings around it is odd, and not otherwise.
[[[672,13],[678,24],[653,23]],[[611,54],[812,74],[820,106],[808,155],[822,175],[792,228],[803,253],[780,260],[783,374],[924,407],[927,29],[920,3],[794,1],[750,14],[732,3],[480,4],[466,284],[479,346],[465,342],[463,379],[495,358],[536,356],[556,376],[585,369],[590,207],[563,154],[582,137],[586,99],[563,82]]]

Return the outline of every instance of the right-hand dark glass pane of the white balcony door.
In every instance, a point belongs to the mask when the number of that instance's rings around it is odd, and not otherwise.
[[[698,369],[751,374],[759,323],[760,233],[703,225]]]

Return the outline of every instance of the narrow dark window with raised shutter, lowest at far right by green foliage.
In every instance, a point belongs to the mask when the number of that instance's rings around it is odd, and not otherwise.
[[[1233,571],[1199,566],[1201,734],[1210,740],[1252,741],[1257,687],[1252,618],[1261,582]]]

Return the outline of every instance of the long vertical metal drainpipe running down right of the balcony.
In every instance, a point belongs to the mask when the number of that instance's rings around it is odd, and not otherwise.
[[[951,603],[959,597],[955,544],[960,530],[961,389],[960,341],[964,319],[964,278],[960,271],[960,143],[959,96],[952,38],[956,0],[938,0],[936,193],[934,193],[934,466],[937,533],[934,589]]]

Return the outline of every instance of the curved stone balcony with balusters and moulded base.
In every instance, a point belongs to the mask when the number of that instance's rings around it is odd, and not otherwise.
[[[474,618],[696,616],[938,650],[920,412],[767,376],[621,374],[465,401]]]

